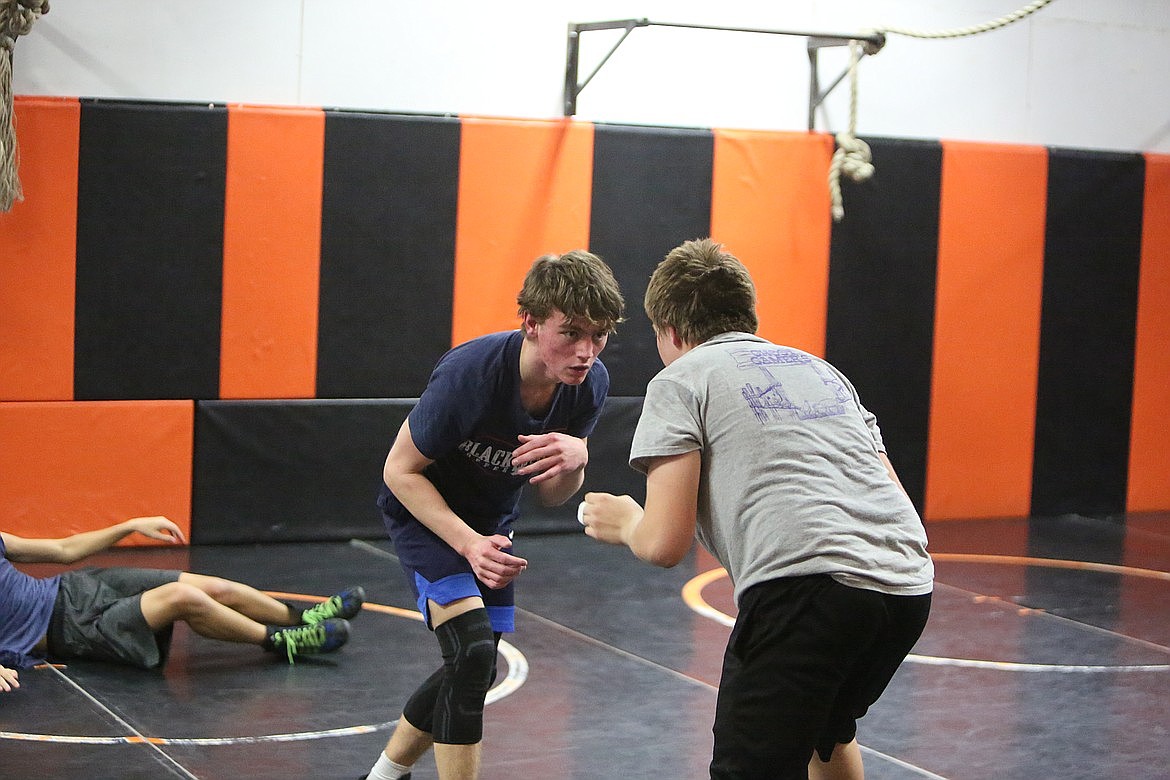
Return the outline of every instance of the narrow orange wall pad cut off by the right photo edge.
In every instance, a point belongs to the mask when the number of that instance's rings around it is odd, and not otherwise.
[[[1145,157],[1127,509],[1170,506],[1170,157]]]

